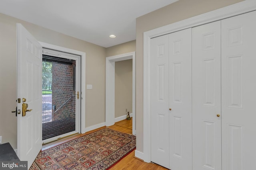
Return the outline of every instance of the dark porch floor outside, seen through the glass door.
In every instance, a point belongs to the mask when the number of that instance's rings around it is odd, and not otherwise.
[[[75,119],[62,119],[42,123],[43,140],[76,130]]]

